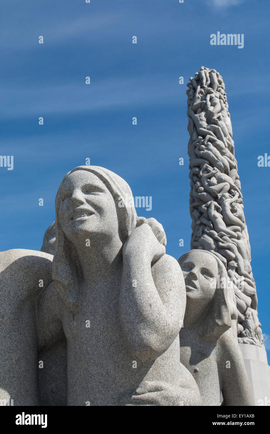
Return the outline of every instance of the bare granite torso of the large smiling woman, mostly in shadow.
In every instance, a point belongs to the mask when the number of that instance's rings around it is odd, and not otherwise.
[[[132,357],[118,313],[119,291],[116,278],[111,286],[82,289],[77,313],[62,306],[68,344],[68,405],[118,405],[120,394],[134,393],[143,380],[179,383],[178,338],[155,361]],[[90,327],[86,327],[88,320]]]

